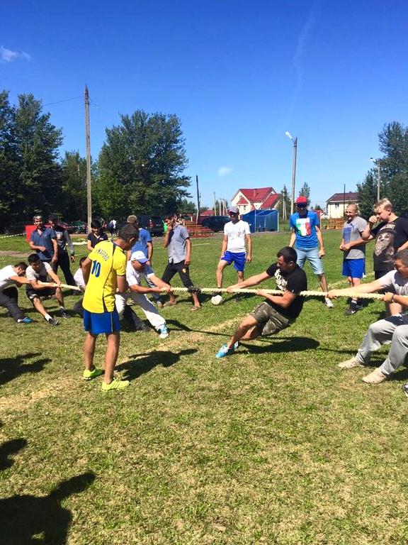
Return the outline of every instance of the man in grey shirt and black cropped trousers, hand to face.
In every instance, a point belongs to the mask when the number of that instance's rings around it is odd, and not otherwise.
[[[169,253],[169,263],[167,263],[164,270],[162,280],[166,284],[170,284],[171,278],[178,272],[181,282],[188,289],[193,299],[191,310],[198,310],[201,308],[198,300],[200,290],[194,287],[188,272],[188,266],[191,263],[190,235],[186,227],[180,225],[174,216],[167,217],[164,221],[167,225],[167,231],[164,235],[163,246],[167,248]],[[174,304],[176,304],[176,298],[173,293],[169,293],[169,301],[164,304],[164,307],[172,307]]]

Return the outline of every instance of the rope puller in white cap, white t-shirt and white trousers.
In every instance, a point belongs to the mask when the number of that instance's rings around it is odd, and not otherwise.
[[[148,259],[145,253],[141,250],[133,252],[130,256],[128,265],[126,265],[126,280],[129,285],[130,294],[115,295],[116,309],[118,310],[119,317],[121,317],[125,309],[126,299],[128,295],[130,295],[130,298],[142,308],[143,312],[145,312],[146,318],[159,333],[159,337],[166,338],[169,336],[166,320],[163,316],[160,316],[159,312],[157,312],[157,308],[154,307],[154,304],[147,299],[146,294],[160,293],[162,289],[165,289],[167,293],[172,293],[171,286],[154,275],[152,268],[149,265],[146,265],[147,261]],[[145,280],[149,279],[155,287],[140,285],[143,278],[145,278]]]

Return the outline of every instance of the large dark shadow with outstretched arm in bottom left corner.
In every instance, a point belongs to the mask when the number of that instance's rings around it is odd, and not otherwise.
[[[7,545],[64,545],[72,514],[61,507],[61,502],[84,492],[94,480],[94,473],[82,473],[63,480],[45,497],[15,495],[0,500],[1,542]]]

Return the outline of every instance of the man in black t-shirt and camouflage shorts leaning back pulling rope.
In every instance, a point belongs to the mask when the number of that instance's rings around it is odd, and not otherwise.
[[[297,253],[294,248],[285,246],[276,254],[277,263],[271,265],[265,272],[249,277],[244,282],[229,286],[228,290],[256,286],[274,277],[276,287],[282,290],[282,295],[270,295],[265,290],[257,290],[256,294],[266,297],[244,318],[237,330],[223,345],[216,358],[224,358],[234,353],[239,341],[251,341],[259,336],[272,335],[293,324],[303,308],[303,297],[300,292],[307,290],[305,271],[297,264]]]

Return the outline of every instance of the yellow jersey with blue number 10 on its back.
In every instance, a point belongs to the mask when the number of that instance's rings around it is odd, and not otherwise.
[[[92,261],[84,294],[84,309],[89,312],[113,312],[116,277],[126,275],[126,255],[110,241],[103,241],[89,254]]]

